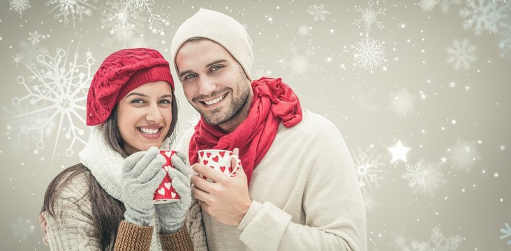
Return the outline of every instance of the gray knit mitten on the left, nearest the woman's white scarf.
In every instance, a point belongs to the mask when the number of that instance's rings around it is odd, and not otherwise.
[[[142,226],[152,222],[154,191],[165,176],[163,164],[165,158],[156,147],[133,153],[124,160],[121,187],[126,221]]]

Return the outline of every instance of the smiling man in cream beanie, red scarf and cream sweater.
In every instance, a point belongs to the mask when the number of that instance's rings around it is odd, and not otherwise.
[[[252,41],[227,15],[201,9],[177,29],[171,54],[201,114],[177,150],[195,172],[209,250],[366,250],[366,216],[339,130],[300,107],[281,79],[251,82]],[[198,150],[239,149],[243,171],[197,164]]]

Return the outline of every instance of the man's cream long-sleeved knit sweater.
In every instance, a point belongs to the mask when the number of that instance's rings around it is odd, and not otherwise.
[[[209,250],[367,250],[366,212],[353,160],[339,130],[304,109],[279,127],[252,174],[252,205],[238,227],[205,211]],[[193,130],[175,147],[188,152]]]

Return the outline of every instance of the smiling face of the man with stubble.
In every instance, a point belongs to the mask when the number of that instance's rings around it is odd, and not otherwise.
[[[245,119],[239,116],[250,105],[251,82],[223,46],[188,41],[177,52],[176,65],[186,99],[207,123],[232,131]]]

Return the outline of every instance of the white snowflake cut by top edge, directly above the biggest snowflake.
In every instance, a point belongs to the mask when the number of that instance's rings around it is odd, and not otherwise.
[[[50,0],[46,2],[46,6],[54,6],[50,12],[54,10],[59,10],[58,13],[54,15],[54,18],[59,20],[59,22],[64,22],[64,24],[69,23],[68,16],[71,15],[71,20],[73,20],[73,24],[75,24],[75,20],[78,19],[78,22],[83,22],[83,16],[91,16],[92,10],[95,7],[91,6],[87,3],[88,0]],[[97,2],[97,0],[94,0]],[[62,18],[64,17],[64,20]]]

